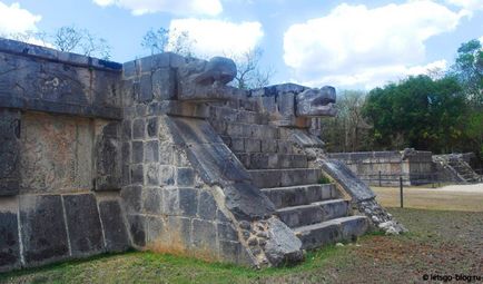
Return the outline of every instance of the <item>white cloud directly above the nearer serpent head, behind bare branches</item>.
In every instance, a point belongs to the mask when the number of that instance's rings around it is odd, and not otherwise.
[[[246,52],[264,36],[262,23],[256,21],[234,23],[223,20],[177,19],[171,21],[169,30],[171,45],[177,35],[186,32],[191,41],[191,51],[201,57]]]

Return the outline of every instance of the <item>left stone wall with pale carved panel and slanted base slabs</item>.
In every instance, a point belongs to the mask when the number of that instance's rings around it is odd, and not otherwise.
[[[130,246],[120,66],[0,40],[0,271]]]

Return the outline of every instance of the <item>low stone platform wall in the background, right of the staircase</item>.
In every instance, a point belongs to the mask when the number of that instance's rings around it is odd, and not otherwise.
[[[434,177],[431,151],[406,149],[404,151],[331,153],[342,160],[362,180],[375,186],[398,186],[431,183]]]

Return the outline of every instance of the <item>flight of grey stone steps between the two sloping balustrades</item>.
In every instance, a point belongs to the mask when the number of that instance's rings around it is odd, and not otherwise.
[[[352,241],[368,228],[365,216],[352,216],[333,184],[318,184],[321,169],[284,137],[256,106],[215,106],[210,123],[245,165],[254,184],[275,204],[279,218],[303,248]]]

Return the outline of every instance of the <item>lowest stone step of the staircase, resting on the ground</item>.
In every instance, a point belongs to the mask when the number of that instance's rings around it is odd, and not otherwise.
[[[367,232],[368,224],[365,216],[348,216],[297,227],[294,232],[302,241],[302,248],[313,249],[337,242],[354,241]]]

